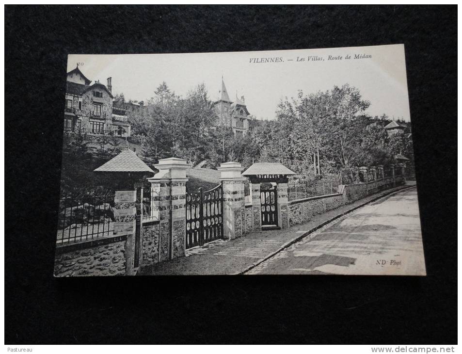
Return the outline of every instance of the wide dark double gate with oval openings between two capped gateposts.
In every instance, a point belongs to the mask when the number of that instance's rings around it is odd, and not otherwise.
[[[223,186],[186,193],[186,248],[223,238]]]

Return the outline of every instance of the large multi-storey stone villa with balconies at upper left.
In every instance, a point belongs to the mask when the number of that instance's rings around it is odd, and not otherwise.
[[[127,110],[112,105],[112,78],[90,84],[79,66],[67,73],[64,130],[90,135],[130,136]]]

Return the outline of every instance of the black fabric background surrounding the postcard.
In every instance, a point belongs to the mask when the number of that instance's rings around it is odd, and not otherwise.
[[[456,13],[456,6],[6,6],[5,342],[456,343]],[[406,50],[428,276],[52,277],[68,53],[398,43]]]

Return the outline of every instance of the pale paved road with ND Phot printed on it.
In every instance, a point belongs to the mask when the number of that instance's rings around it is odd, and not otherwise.
[[[416,188],[325,225],[246,274],[425,275]]]

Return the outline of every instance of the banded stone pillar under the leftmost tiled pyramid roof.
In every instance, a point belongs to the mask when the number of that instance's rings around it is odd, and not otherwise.
[[[125,275],[134,274],[135,262],[135,215],[136,191],[115,191],[114,196],[114,236],[127,235],[125,247]]]

